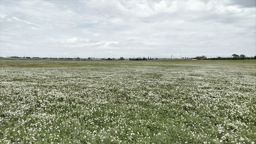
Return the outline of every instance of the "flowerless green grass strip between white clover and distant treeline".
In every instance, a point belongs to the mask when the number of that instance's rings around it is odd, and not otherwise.
[[[41,59],[0,59],[0,67],[83,67],[83,66],[118,66],[118,65],[168,65],[168,64],[199,64],[199,65],[252,65],[256,60],[182,60],[158,59],[150,61],[118,61],[118,60],[41,60]]]

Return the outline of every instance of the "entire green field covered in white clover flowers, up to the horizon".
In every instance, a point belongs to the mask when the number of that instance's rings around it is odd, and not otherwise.
[[[256,60],[0,68],[0,143],[256,143]]]

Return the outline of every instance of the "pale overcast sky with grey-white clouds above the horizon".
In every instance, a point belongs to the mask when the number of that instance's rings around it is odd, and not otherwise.
[[[0,56],[256,55],[256,1],[0,1]]]

